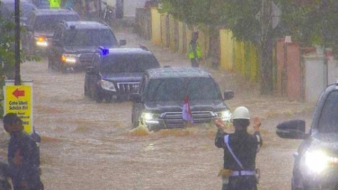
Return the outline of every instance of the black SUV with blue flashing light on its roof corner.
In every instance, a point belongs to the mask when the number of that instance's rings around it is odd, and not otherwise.
[[[160,64],[151,51],[142,48],[100,47],[95,53],[91,67],[87,68],[84,95],[101,103],[128,100],[136,93],[143,73],[147,69],[159,68]]]

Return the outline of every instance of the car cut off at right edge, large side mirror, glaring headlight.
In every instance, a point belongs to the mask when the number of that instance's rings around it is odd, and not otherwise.
[[[304,139],[294,153],[292,189],[338,189],[338,83],[319,97],[309,133],[303,120],[280,123],[276,133]]]

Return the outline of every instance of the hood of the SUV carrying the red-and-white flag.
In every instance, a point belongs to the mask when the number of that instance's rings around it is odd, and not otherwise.
[[[228,107],[221,100],[194,100],[189,101],[190,109],[194,111],[223,111]],[[163,112],[181,112],[183,107],[182,101],[167,101],[167,102],[147,102],[145,103],[145,110],[152,113]]]

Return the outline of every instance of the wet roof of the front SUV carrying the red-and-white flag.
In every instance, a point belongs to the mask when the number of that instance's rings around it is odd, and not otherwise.
[[[185,78],[185,77],[211,77],[211,75],[200,69],[192,67],[169,67],[150,69],[146,72],[151,79],[161,78]]]

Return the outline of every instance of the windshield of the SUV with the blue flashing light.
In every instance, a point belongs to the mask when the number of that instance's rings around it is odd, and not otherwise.
[[[148,69],[159,68],[159,62],[151,54],[125,54],[107,57],[101,63],[104,73],[143,73]]]

